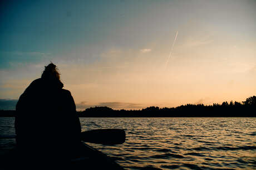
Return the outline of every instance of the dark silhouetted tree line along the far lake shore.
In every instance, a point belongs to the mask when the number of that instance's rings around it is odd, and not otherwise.
[[[186,104],[171,108],[151,106],[142,110],[90,107],[78,111],[77,114],[79,117],[256,117],[256,96],[248,97],[242,102],[224,101],[222,104],[213,105]],[[0,116],[15,116],[15,111],[1,110]]]

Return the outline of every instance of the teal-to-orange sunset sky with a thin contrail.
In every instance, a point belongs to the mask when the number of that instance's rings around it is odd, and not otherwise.
[[[0,99],[50,61],[77,110],[256,95],[256,1],[1,1]],[[0,108],[1,109],[1,108]]]

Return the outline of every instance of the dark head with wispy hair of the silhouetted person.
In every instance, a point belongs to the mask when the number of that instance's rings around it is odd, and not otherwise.
[[[47,80],[60,80],[60,73],[58,73],[57,66],[53,63],[45,66],[45,71],[43,71],[41,78]]]

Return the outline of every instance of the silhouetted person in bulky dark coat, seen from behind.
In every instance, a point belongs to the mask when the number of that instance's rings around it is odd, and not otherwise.
[[[70,91],[62,87],[56,65],[51,63],[19,97],[15,130],[22,159],[24,154],[28,161],[64,163],[79,149],[81,125],[76,105]]]

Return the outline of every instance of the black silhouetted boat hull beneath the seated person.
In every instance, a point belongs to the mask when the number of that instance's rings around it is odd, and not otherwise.
[[[87,145],[86,143],[81,143],[81,150],[80,154],[74,159],[71,159],[71,162],[68,163],[68,167],[65,167],[67,165],[67,162],[58,161],[60,164],[55,164],[54,167],[50,166],[47,167],[47,169],[113,169],[113,170],[124,170],[118,163],[114,161],[111,157],[107,156],[106,154],[102,153],[99,150],[96,150],[95,148]],[[24,153],[26,154],[26,153]],[[16,155],[16,148],[12,148],[6,154],[0,156],[1,165],[0,169],[21,169],[21,167],[18,166],[15,159]],[[33,156],[32,156],[33,157]],[[47,156],[46,156],[47,157]],[[46,158],[45,157],[45,158]],[[41,157],[42,158],[42,157]],[[35,160],[35,158],[27,159],[26,162],[23,164],[23,168],[26,168],[26,164],[29,165],[27,169],[45,169],[46,166],[40,165],[37,163],[33,163],[32,160]],[[47,158],[45,159],[45,161]],[[56,159],[56,161],[58,158]],[[43,162],[43,161],[42,161]],[[69,161],[68,161],[69,162]],[[22,169],[23,169],[22,168]]]

